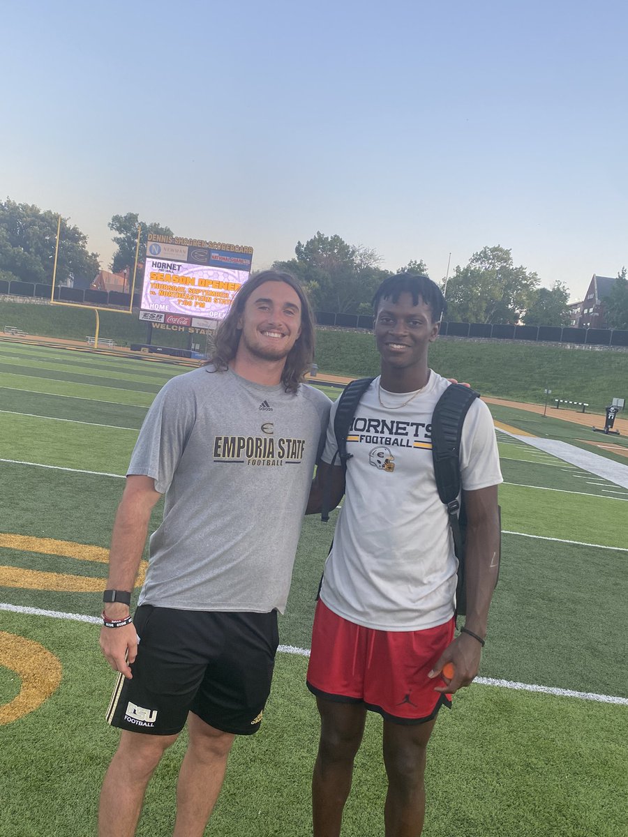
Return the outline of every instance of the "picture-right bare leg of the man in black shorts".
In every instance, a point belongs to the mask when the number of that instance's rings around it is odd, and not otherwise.
[[[177,784],[177,822],[172,837],[202,837],[223,786],[235,736],[188,715],[188,750]]]

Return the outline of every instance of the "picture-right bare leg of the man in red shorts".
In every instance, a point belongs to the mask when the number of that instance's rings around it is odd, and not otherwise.
[[[383,763],[389,778],[386,837],[419,837],[425,818],[425,752],[436,719],[423,724],[383,722]]]

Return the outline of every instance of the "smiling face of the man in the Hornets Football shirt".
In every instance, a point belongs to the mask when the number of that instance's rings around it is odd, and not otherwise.
[[[380,301],[375,318],[375,340],[382,357],[382,370],[427,369],[427,352],[438,335],[439,323],[432,321],[432,311],[423,298],[414,305],[412,294],[404,291],[394,302]]]

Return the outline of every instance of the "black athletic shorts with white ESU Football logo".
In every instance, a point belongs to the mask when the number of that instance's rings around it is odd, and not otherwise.
[[[277,612],[214,613],[142,604],[133,677],[118,675],[106,713],[113,727],[174,735],[188,711],[237,735],[260,728],[279,644]]]

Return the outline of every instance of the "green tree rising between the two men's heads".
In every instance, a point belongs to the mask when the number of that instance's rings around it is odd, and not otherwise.
[[[370,301],[389,274],[380,270],[381,257],[373,249],[347,244],[339,235],[317,232],[295,248],[296,259],[275,262],[301,281],[317,311],[358,314],[370,312]]]

